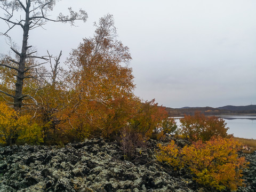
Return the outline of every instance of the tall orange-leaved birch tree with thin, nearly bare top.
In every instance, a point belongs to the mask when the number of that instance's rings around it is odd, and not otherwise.
[[[68,105],[61,114],[62,131],[78,140],[112,137],[133,113],[134,89],[128,47],[117,41],[112,15],[95,23],[92,38],[73,50],[67,63]]]

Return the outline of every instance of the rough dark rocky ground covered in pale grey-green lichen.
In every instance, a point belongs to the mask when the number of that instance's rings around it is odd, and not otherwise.
[[[164,141],[163,141],[164,142]],[[166,142],[166,141],[165,141]],[[178,145],[185,145],[177,140]],[[185,170],[174,171],[155,159],[157,142],[136,149],[125,161],[116,142],[85,140],[64,148],[55,146],[9,146],[0,148],[0,192],[3,191],[198,191]],[[238,191],[256,191],[256,154],[244,172],[247,186]]]

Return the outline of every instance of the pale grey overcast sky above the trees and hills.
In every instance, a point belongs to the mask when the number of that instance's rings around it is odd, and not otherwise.
[[[93,36],[93,22],[110,13],[118,38],[130,48],[135,94],[143,100],[173,108],[256,105],[255,0],[62,0],[53,18],[70,6],[84,9],[87,22],[49,22],[46,30],[32,30],[29,45],[38,54],[62,50],[65,61]],[[10,35],[21,45],[19,27]],[[0,36],[0,53],[10,50],[5,41]]]

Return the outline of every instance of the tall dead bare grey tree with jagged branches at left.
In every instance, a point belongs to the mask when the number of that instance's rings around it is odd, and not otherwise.
[[[29,31],[37,27],[42,27],[47,21],[69,22],[70,25],[74,26],[76,20],[82,20],[85,22],[87,19],[87,13],[84,10],[75,12],[71,7],[68,8],[70,12],[69,15],[63,15],[60,13],[57,19],[49,18],[48,13],[53,10],[57,1],[58,0],[0,0],[0,9],[3,10],[1,11],[3,12],[3,15],[0,15],[0,19],[4,20],[8,26],[7,30],[0,33],[0,35],[9,37],[9,31],[17,26],[21,27],[23,30],[21,50],[18,51],[11,47],[11,50],[17,55],[18,59],[10,59],[10,61],[15,63],[17,67],[13,67],[13,65],[9,65],[8,63],[0,63],[0,66],[17,71],[17,74],[14,75],[16,77],[15,93],[7,93],[0,90],[0,92],[4,93],[8,97],[13,98],[12,105],[17,111],[21,110],[23,105],[22,101],[24,99],[33,99],[30,95],[22,93],[23,80],[26,78],[33,78],[31,75],[26,76],[25,74],[29,69],[45,63],[43,62],[34,66],[26,66],[26,60],[29,58],[43,59],[45,61],[49,60],[47,56],[38,57],[35,55],[36,51],[29,52],[29,48],[32,47],[31,45],[28,45]]]

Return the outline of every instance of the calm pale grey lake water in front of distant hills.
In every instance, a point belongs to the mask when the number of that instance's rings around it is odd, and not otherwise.
[[[229,127],[228,134],[234,134],[234,137],[256,139],[256,116],[220,116]],[[180,125],[179,119],[176,117],[177,125]]]

